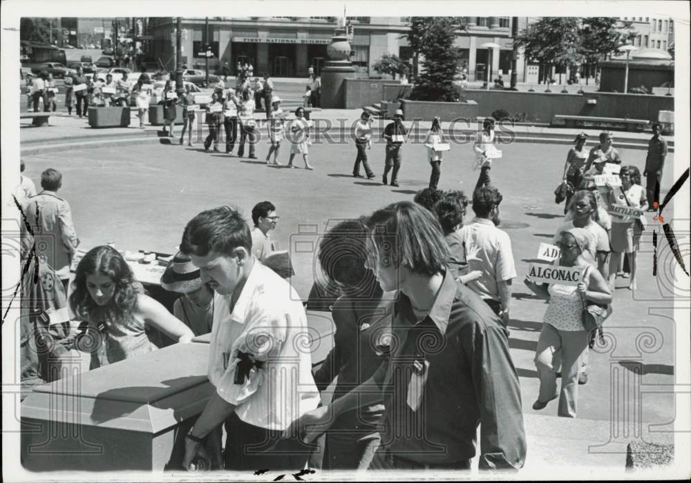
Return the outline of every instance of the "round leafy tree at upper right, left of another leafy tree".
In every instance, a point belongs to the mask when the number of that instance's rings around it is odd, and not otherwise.
[[[530,61],[547,67],[548,81],[551,66],[565,68],[583,61],[579,17],[542,17],[521,30],[516,44]]]

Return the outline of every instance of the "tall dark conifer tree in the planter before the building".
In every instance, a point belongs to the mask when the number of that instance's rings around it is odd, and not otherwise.
[[[408,43],[424,56],[424,71],[415,78],[410,99],[457,101],[459,52],[453,47],[462,27],[460,17],[412,17]]]

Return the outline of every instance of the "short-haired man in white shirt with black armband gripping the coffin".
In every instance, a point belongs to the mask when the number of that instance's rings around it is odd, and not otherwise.
[[[184,467],[197,468],[203,438],[225,422],[225,469],[303,469],[309,448],[281,439],[319,404],[299,295],[252,255],[249,226],[229,206],[191,219],[180,250],[216,292],[208,373],[216,391],[185,438]]]

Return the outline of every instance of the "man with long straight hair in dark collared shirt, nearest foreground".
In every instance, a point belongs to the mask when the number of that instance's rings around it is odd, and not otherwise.
[[[384,353],[388,347],[388,360],[367,382],[303,415],[293,431],[311,440],[310,431],[383,396],[381,446],[370,469],[469,469],[478,425],[480,469],[520,469],[526,441],[507,330],[453,279],[428,210],[392,204],[372,214],[368,228],[368,266],[381,288],[399,290],[388,337],[372,342]]]

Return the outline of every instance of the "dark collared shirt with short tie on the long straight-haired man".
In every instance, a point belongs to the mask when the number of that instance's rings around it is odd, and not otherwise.
[[[420,464],[469,460],[480,424],[480,469],[523,466],[518,373],[508,333],[487,304],[447,270],[424,319],[399,295],[392,340],[388,362],[373,376],[384,391],[381,440],[390,453]]]

